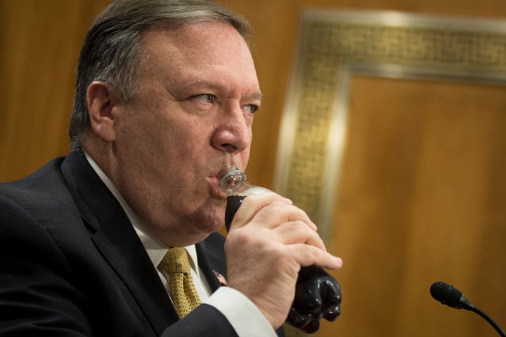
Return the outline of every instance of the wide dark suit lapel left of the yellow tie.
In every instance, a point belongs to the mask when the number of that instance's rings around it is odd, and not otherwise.
[[[160,336],[178,317],[128,217],[82,152],[69,154],[62,173],[82,218],[91,227],[91,239],[98,251]]]

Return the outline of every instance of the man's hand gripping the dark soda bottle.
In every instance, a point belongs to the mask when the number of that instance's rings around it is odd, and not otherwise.
[[[275,193],[242,201],[226,239],[228,286],[241,291],[277,329],[294,300],[301,266],[341,267],[309,217]]]

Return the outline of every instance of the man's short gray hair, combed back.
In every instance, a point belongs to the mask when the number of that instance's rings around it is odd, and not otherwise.
[[[136,94],[144,32],[216,21],[228,22],[247,39],[247,20],[209,0],[116,0],[105,8],[86,35],[77,63],[70,150],[81,147],[81,136],[91,127],[86,91],[93,81],[110,84],[125,102]]]

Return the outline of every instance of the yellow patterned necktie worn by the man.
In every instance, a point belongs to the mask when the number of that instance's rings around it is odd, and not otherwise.
[[[162,260],[162,267],[170,274],[172,301],[179,318],[183,318],[200,305],[186,250],[170,248]]]

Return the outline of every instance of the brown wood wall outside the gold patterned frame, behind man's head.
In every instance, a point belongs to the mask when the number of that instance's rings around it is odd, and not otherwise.
[[[374,8],[506,18],[502,0],[223,0],[252,23],[265,94],[254,125],[250,180],[272,186],[280,115],[299,12],[305,7]],[[74,69],[93,18],[109,0],[0,0],[0,181],[25,176],[67,153]]]

